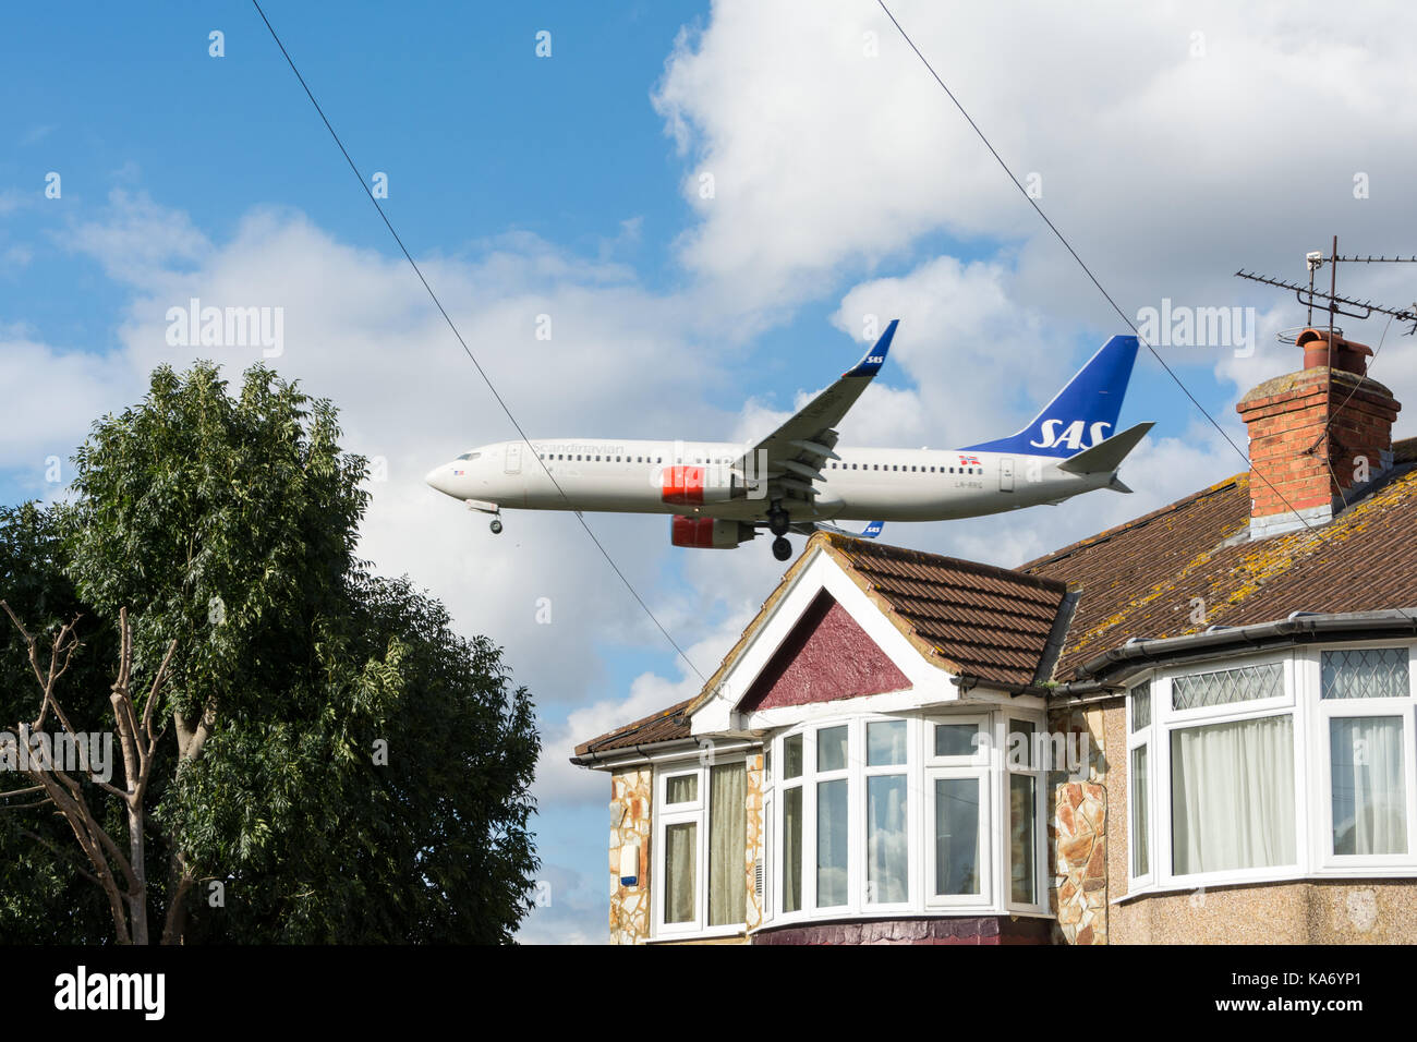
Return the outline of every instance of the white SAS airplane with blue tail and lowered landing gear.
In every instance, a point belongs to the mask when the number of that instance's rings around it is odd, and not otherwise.
[[[1153,424],[1112,434],[1136,360],[1135,336],[1114,336],[1022,431],[951,451],[846,448],[837,427],[886,364],[900,319],[836,383],[761,441],[503,441],[435,466],[427,482],[470,509],[667,513],[670,543],[731,549],[819,529],[874,537],[884,522],[951,520],[1112,489],[1122,459]],[[870,520],[856,533],[832,522]]]

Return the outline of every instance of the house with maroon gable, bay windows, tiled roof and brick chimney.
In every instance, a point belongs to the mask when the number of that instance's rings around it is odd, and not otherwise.
[[[616,943],[1417,940],[1417,439],[1326,330],[1250,469],[1002,568],[813,536],[595,737]]]

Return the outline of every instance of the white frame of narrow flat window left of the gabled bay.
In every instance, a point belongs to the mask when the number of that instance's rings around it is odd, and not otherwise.
[[[743,764],[747,770],[747,756],[735,753],[717,756],[713,763],[706,758],[672,760],[655,766],[655,788],[650,815],[653,818],[653,869],[650,870],[652,924],[650,940],[672,940],[680,937],[734,937],[747,929],[747,902],[743,921],[724,926],[708,923],[708,802],[710,767]],[[697,794],[693,801],[669,804],[669,780],[691,774],[697,777]],[[665,832],[670,825],[696,824],[697,844],[694,846],[694,917],[689,923],[665,921],[665,892],[667,872],[665,858],[669,853]],[[747,848],[744,848],[744,873],[747,873]]]

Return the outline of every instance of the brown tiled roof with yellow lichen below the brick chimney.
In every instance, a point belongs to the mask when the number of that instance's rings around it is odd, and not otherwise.
[[[1022,566],[1081,590],[1053,679],[1076,679],[1078,665],[1132,637],[1410,607],[1417,439],[1393,454],[1393,475],[1326,525],[1250,540],[1248,474],[1240,474]]]

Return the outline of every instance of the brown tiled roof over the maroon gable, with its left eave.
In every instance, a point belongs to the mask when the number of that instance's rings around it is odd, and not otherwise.
[[[818,546],[842,566],[921,655],[941,668],[1000,685],[1043,679],[1037,675],[1040,666],[1046,671],[1050,658],[1049,638],[1067,595],[1066,583],[819,532],[808,540],[697,698],[577,746],[577,758],[591,751],[687,739],[689,712],[723,680]]]

